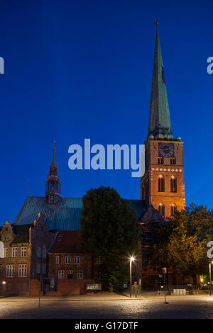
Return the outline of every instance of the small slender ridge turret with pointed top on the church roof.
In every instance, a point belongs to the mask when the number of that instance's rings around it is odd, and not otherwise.
[[[58,164],[55,163],[55,142],[53,149],[53,162],[50,164],[48,180],[46,181],[45,197],[48,203],[57,203],[60,199],[60,178],[58,175]]]

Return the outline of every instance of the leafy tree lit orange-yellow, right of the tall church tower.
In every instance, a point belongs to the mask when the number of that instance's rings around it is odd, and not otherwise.
[[[212,236],[213,210],[191,203],[160,227],[153,259],[159,266],[181,266],[183,275],[192,276],[196,284],[196,275],[207,273],[207,242]]]

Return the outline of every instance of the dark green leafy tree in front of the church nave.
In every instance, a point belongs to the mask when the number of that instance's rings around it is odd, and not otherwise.
[[[138,219],[114,188],[90,189],[83,197],[80,220],[82,249],[102,256],[96,279],[112,290],[127,281],[131,254],[138,252]]]

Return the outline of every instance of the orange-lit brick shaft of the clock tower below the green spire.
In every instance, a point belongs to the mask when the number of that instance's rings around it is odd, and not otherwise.
[[[173,145],[173,157],[159,159],[159,145],[164,142]],[[173,214],[173,209],[185,208],[182,144],[180,141],[163,140],[148,140],[146,143],[146,172],[141,178],[141,199],[147,205],[153,205],[165,218]],[[159,188],[161,179],[163,188]],[[160,205],[164,208],[162,211]]]

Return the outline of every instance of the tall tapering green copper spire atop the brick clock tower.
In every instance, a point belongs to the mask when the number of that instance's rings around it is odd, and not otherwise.
[[[163,60],[158,35],[158,21],[156,22],[155,57],[148,123],[148,138],[173,140],[170,109],[168,106]]]

